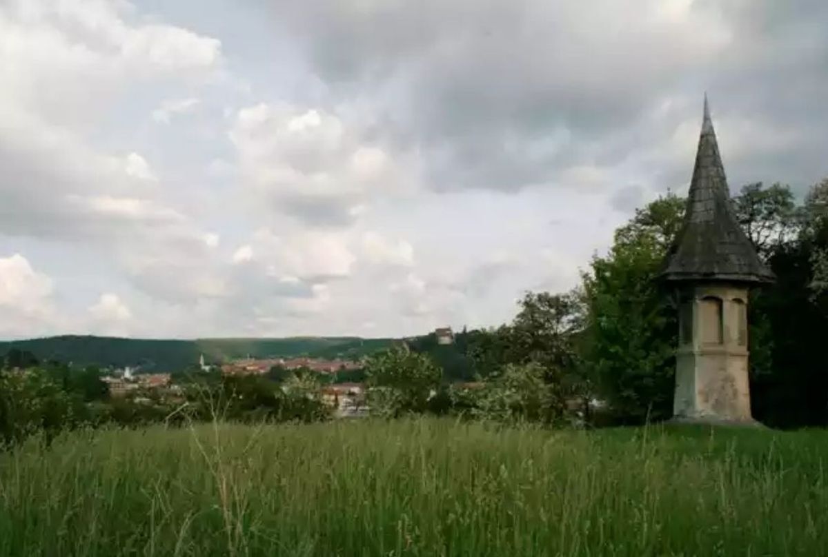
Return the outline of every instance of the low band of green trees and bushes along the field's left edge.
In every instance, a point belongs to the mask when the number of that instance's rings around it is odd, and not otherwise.
[[[330,417],[320,398],[318,374],[228,376],[196,372],[173,389],[137,388],[113,396],[98,367],[39,362],[12,349],[0,358],[0,449],[31,435],[50,441],[65,430],[105,425],[231,420],[317,421]]]

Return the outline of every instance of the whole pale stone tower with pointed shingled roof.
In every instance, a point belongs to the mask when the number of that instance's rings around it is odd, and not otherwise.
[[[679,311],[674,419],[753,423],[748,291],[774,277],[737,222],[706,95],[684,223],[662,279]]]

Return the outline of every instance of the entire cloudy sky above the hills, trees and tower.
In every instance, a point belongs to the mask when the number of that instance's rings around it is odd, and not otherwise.
[[[634,9],[633,9],[634,3]],[[417,334],[828,175],[823,0],[0,0],[0,338]]]

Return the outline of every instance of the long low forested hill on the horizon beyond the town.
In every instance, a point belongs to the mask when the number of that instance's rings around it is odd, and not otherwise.
[[[222,363],[248,355],[253,358],[359,358],[391,343],[392,339],[355,337],[149,340],[67,335],[0,342],[0,354],[19,348],[40,360],[79,366],[141,366],[146,371],[176,372],[195,366],[201,354],[207,363]]]

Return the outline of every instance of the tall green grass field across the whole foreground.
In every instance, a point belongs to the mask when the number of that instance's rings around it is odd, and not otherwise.
[[[826,555],[828,433],[450,420],[0,454],[0,555]]]

